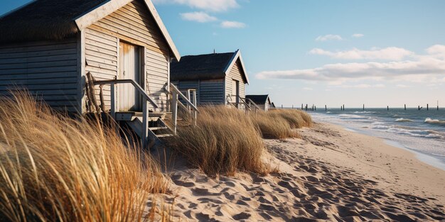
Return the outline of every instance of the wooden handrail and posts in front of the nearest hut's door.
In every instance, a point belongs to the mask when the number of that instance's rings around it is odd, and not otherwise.
[[[133,79],[113,79],[113,80],[101,80],[101,81],[94,81],[93,84],[95,85],[104,85],[109,84],[111,89],[111,116],[113,118],[116,118],[116,92],[114,89],[114,86],[117,84],[132,84],[134,89],[139,91],[139,94],[143,98],[142,102],[142,147],[145,148],[146,144],[149,139],[149,105],[151,104],[154,108],[159,108],[158,104],[156,104],[156,101],[154,99],[151,99],[149,94],[146,94],[146,91],[142,89],[139,84],[137,84]]]

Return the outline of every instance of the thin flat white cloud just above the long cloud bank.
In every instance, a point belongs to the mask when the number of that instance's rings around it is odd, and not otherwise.
[[[404,48],[389,47],[389,48],[372,48],[371,50],[353,50],[331,52],[314,48],[309,51],[313,55],[327,55],[336,59],[342,60],[402,60],[405,57],[414,55],[414,52],[405,50]]]

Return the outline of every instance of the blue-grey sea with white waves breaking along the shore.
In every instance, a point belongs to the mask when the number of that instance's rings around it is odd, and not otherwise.
[[[323,109],[310,113],[314,121],[382,138],[445,170],[445,109]]]

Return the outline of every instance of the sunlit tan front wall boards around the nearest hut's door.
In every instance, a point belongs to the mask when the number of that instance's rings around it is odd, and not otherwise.
[[[135,0],[87,28],[85,50],[87,68],[96,79],[114,79],[119,71],[119,41],[144,47],[147,93],[161,110],[167,107],[163,87],[168,83],[169,48],[144,1]],[[110,107],[109,86],[104,87],[107,109]],[[97,94],[99,93],[97,87]]]

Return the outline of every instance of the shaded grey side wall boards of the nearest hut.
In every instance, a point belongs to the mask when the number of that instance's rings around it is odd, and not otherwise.
[[[28,89],[54,109],[78,111],[77,40],[0,46],[0,94]]]

